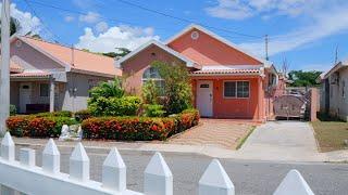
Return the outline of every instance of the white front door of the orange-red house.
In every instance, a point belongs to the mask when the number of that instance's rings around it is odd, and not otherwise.
[[[197,81],[197,108],[203,117],[213,116],[213,81]]]

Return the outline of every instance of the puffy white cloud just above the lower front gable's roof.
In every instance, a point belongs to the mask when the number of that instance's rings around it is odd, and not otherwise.
[[[85,34],[78,38],[76,48],[88,49],[94,52],[112,52],[115,48],[134,50],[140,44],[160,39],[153,35],[153,28],[140,28],[132,26],[113,26],[107,31],[95,35],[91,28],[85,28]]]

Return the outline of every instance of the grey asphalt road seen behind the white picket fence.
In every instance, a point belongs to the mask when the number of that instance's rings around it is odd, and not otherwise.
[[[71,150],[60,148],[62,171],[69,171]],[[107,151],[88,150],[91,165],[91,179],[101,180],[101,165]],[[41,150],[37,150],[37,165],[41,165]],[[150,160],[151,152],[121,151],[127,165],[128,188],[142,191],[142,172]],[[163,153],[174,174],[174,194],[197,194],[198,181],[211,158],[194,154]],[[298,169],[312,187],[320,194],[346,195],[348,192],[347,164],[275,164],[221,159],[235,184],[237,195],[270,195],[290,169]]]

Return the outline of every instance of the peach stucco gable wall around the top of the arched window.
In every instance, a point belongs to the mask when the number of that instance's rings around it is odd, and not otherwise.
[[[142,74],[153,61],[162,61],[170,64],[175,62],[182,63],[177,57],[166,53],[157,46],[151,46],[139,52],[135,57],[122,64],[123,75],[126,77],[125,89],[128,93],[140,94]]]

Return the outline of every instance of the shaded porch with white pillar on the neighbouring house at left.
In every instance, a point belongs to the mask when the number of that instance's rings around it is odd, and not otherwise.
[[[12,74],[10,103],[20,114],[60,110],[65,83],[58,82],[50,74]]]

